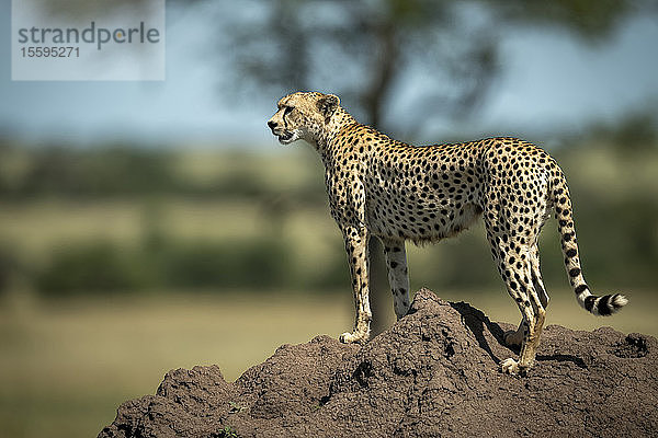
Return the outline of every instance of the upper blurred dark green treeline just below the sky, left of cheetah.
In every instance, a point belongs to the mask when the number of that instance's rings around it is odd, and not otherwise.
[[[223,199],[271,199],[279,187],[264,184],[248,157],[246,165],[207,181],[186,178],[171,151],[106,146],[90,150],[49,147],[12,149],[0,143],[0,198],[107,198],[171,195]],[[251,166],[250,166],[251,165]],[[317,182],[320,182],[318,178]],[[324,185],[303,184],[292,196],[299,204],[324,203]]]

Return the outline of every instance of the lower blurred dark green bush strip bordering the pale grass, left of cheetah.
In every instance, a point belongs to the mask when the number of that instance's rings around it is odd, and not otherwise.
[[[270,289],[294,287],[295,262],[281,240],[160,242],[158,250],[110,242],[67,245],[36,275],[47,295],[154,288]]]

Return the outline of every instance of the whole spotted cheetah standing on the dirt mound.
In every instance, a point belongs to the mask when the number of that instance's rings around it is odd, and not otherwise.
[[[405,242],[434,243],[481,217],[498,273],[522,314],[504,342],[519,360],[499,364],[509,374],[534,365],[548,295],[542,283],[537,238],[555,212],[570,285],[578,303],[610,315],[627,303],[620,293],[594,296],[580,267],[567,181],[543,149],[518,138],[416,147],[356,122],[333,94],[297,92],[279,101],[268,122],[283,145],[303,139],[321,157],[331,216],[344,238],[356,309],[343,343],[370,337],[370,237],[384,246],[395,313],[409,310]]]

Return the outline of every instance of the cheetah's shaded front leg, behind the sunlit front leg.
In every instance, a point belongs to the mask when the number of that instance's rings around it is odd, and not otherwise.
[[[388,284],[393,293],[393,306],[398,321],[409,311],[409,269],[405,241],[379,238],[386,256]]]

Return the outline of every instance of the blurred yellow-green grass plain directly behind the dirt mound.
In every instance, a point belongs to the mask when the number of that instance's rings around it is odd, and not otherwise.
[[[494,321],[519,312],[500,290],[442,291]],[[611,319],[595,319],[568,291],[552,293],[548,324],[590,330],[612,325],[657,335],[651,293],[632,293]],[[155,393],[174,368],[217,364],[227,380],[285,343],[351,326],[351,293],[152,293],[57,302],[5,296],[0,306],[0,429],[3,436],[90,437],[117,405]],[[393,316],[389,312],[388,316]]]

